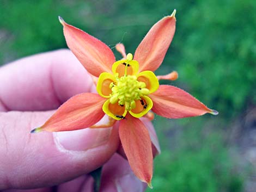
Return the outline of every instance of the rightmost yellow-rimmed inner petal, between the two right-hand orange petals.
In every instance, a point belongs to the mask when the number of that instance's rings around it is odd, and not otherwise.
[[[155,92],[159,88],[159,81],[152,71],[140,72],[137,76],[139,82],[144,82],[149,90],[149,94]]]

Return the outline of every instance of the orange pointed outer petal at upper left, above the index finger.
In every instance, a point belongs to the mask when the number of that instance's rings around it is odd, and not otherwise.
[[[66,23],[62,17],[59,17],[59,21],[63,25],[66,44],[84,68],[96,77],[102,72],[111,73],[115,62],[111,49],[99,39]]]

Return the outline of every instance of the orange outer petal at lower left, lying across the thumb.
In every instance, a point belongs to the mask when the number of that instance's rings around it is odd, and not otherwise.
[[[31,133],[40,131],[73,131],[93,126],[105,115],[102,105],[105,98],[93,93],[71,97],[42,125]]]

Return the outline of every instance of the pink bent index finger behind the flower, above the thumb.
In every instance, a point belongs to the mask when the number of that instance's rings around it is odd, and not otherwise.
[[[68,49],[36,54],[0,68],[0,111],[56,109],[92,84]]]

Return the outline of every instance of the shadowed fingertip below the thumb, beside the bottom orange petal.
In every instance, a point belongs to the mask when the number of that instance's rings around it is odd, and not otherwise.
[[[119,154],[114,154],[103,166],[100,192],[143,192],[146,188],[147,184],[139,181]]]

